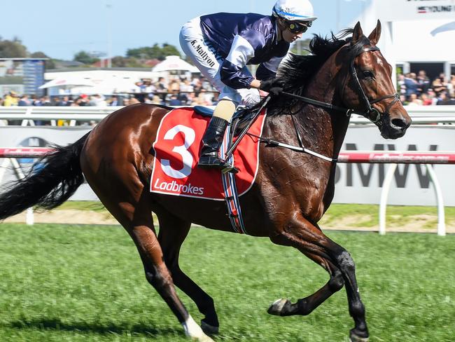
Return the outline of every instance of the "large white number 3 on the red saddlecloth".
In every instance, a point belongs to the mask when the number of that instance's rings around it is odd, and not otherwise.
[[[191,174],[193,167],[193,156],[190,152],[188,152],[188,149],[193,144],[193,142],[195,142],[196,138],[196,133],[193,128],[189,128],[184,125],[176,125],[166,132],[164,139],[172,140],[179,133],[183,133],[185,136],[185,142],[181,146],[175,146],[174,149],[172,149],[172,152],[178,153],[181,156],[183,167],[180,170],[175,170],[174,167],[171,166],[169,159],[160,160],[163,172],[165,172],[165,174],[169,177],[175,179],[186,178]]]

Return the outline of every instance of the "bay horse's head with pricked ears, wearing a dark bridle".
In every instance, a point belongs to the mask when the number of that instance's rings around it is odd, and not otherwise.
[[[342,81],[343,102],[348,108],[363,113],[378,126],[381,136],[397,139],[405,135],[412,120],[395,92],[391,78],[392,67],[379,48],[381,22],[370,36],[363,35],[360,22],[353,29],[349,47],[349,65]]]

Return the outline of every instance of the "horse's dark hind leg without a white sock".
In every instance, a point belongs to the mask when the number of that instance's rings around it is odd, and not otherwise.
[[[196,303],[197,308],[205,317],[201,321],[202,330],[207,334],[218,334],[219,322],[214,306],[214,300],[201,289],[179,266],[180,248],[190,231],[190,222],[183,221],[170,213],[159,214],[160,242],[165,256],[167,268],[172,273],[174,284],[185,292]]]

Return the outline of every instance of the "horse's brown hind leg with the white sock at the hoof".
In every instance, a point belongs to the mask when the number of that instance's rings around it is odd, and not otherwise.
[[[85,177],[104,206],[116,217],[134,240],[144,264],[148,282],[166,301],[181,322],[186,335],[197,339],[197,341],[213,341],[204,334],[200,326],[188,314],[176,294],[172,275],[165,264],[162,249],[153,227],[150,193],[139,181],[139,178],[134,179],[131,176],[134,175],[134,172],[134,168],[125,170],[123,172],[125,176],[122,179],[112,177],[109,178],[110,183],[102,183],[98,178],[90,175],[90,172],[85,172]]]

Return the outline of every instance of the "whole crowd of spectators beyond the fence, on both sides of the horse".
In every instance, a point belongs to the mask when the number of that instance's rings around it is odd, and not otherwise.
[[[135,84],[132,93],[114,95],[18,95],[10,91],[0,97],[0,106],[125,106],[139,102],[168,106],[213,106],[218,102],[218,92],[204,77],[188,79],[174,76],[153,82],[143,79]],[[430,80],[425,71],[419,74],[399,74],[398,92],[402,102],[409,106],[455,105],[455,75],[447,79],[444,74]]]

